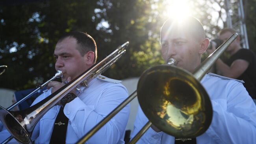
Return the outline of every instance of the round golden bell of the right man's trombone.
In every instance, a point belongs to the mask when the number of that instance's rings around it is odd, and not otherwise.
[[[160,130],[193,138],[211,124],[212,107],[206,90],[182,68],[157,65],[143,72],[137,86],[139,104]]]

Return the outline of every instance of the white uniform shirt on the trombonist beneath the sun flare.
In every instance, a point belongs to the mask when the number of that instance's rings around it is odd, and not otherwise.
[[[201,81],[213,107],[208,130],[198,136],[197,144],[256,144],[256,106],[242,83],[206,75]],[[139,107],[133,138],[148,122]],[[174,137],[149,128],[138,144],[174,144]]]

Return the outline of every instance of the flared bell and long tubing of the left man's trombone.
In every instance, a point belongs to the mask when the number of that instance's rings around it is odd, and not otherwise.
[[[128,44],[128,41],[122,44],[102,61],[96,63],[90,69],[83,72],[83,74],[59,88],[59,90],[46,97],[43,101],[40,101],[26,110],[13,112],[0,106],[0,120],[3,125],[18,142],[31,144],[32,140],[30,137],[39,119],[80,83],[91,81],[121,58]]]

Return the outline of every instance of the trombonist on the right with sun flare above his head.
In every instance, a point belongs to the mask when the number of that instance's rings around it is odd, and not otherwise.
[[[180,19],[179,19],[180,20]],[[209,44],[202,24],[193,17],[184,21],[167,20],[161,29],[161,54],[167,62],[176,59],[176,66],[194,72],[200,65],[201,54]],[[139,139],[139,144],[242,144],[256,143],[256,106],[243,84],[227,77],[206,74],[201,80],[213,108],[213,117],[208,130],[196,139],[179,139],[164,133],[152,125]],[[184,90],[186,91],[186,90]],[[148,122],[141,107],[137,112],[134,131]]]

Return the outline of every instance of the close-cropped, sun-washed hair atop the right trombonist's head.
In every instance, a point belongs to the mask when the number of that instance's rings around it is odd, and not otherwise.
[[[165,39],[170,34],[170,31],[186,33],[198,42],[205,38],[202,24],[192,16],[188,16],[182,20],[175,18],[166,20],[162,26],[160,38]]]

